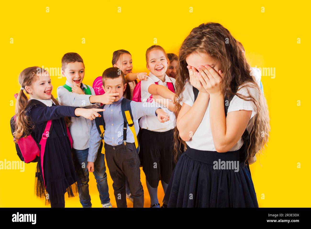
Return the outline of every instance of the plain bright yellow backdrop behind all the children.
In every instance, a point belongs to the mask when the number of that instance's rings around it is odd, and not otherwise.
[[[83,82],[92,85],[104,69],[111,67],[114,50],[131,52],[133,72],[146,71],[145,52],[154,45],[154,38],[167,53],[178,54],[179,46],[193,27],[219,22],[242,42],[251,66],[276,69],[274,79],[270,76],[261,79],[272,131],[264,155],[251,165],[259,206],[310,207],[310,6],[304,2],[2,2],[0,161],[19,160],[9,120],[14,115],[13,94],[20,88],[18,75],[26,67],[60,68],[63,54],[77,52],[86,66]],[[189,12],[190,7],[193,12]],[[301,44],[297,44],[297,38]],[[57,76],[51,79],[56,97],[56,88],[65,79]],[[297,168],[297,163],[301,168]],[[25,172],[0,170],[0,207],[44,207],[34,195],[35,166],[36,163],[26,164]],[[116,207],[108,170],[107,175],[111,203]],[[143,172],[141,180],[145,207],[150,207]],[[161,184],[158,193],[161,203]],[[93,175],[90,175],[90,194],[93,207],[101,207]],[[81,207],[79,198],[66,200],[66,207]],[[130,201],[128,207],[132,207]]]

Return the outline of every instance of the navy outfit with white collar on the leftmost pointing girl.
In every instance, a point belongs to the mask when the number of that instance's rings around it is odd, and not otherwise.
[[[67,136],[66,124],[63,117],[77,117],[77,107],[56,106],[51,99],[30,99],[26,114],[34,124],[31,135],[40,142],[44,126],[52,120],[52,131],[46,141],[42,177],[41,159],[37,164],[35,192],[38,197],[46,198],[51,207],[64,207],[64,194],[68,197],[77,195],[76,170],[72,161],[70,141]],[[41,156],[41,155],[40,155]],[[46,189],[44,189],[44,182]],[[49,196],[46,196],[46,192]]]

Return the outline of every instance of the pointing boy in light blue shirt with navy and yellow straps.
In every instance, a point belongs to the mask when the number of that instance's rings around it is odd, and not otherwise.
[[[104,148],[106,161],[110,176],[113,180],[114,195],[118,208],[126,208],[125,179],[128,179],[131,194],[133,197],[133,207],[143,207],[144,192],[140,182],[140,160],[138,158],[135,138],[128,124],[124,127],[124,118],[121,104],[126,83],[123,72],[115,67],[108,68],[102,75],[103,88],[106,93],[118,93],[112,104],[104,105],[101,119],[104,119]],[[150,103],[149,103],[150,104]],[[159,107],[150,107],[148,103],[138,103],[130,101],[132,111],[132,121],[136,135],[139,131],[138,119],[144,115],[155,115],[159,122],[169,120],[169,115]],[[123,130],[126,129],[126,141],[124,141]],[[91,130],[90,148],[87,168],[89,172],[94,168],[94,161],[98,156],[98,150],[102,146],[102,139],[98,131],[98,126],[94,125]]]

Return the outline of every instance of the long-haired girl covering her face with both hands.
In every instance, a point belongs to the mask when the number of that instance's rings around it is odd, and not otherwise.
[[[248,160],[266,144],[267,103],[244,54],[218,23],[194,28],[179,50],[178,139],[187,150],[169,181],[168,207],[258,207]]]

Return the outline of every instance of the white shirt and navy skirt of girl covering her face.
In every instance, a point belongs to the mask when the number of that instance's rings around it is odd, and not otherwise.
[[[249,93],[258,99],[256,89]],[[238,93],[248,95],[246,88]],[[189,80],[183,91],[183,103],[193,106],[194,93]],[[234,96],[228,113],[251,110],[247,125],[248,133],[253,128],[256,109],[251,101]],[[168,207],[258,207],[253,181],[248,167],[240,161],[243,145],[241,138],[228,152],[216,152],[210,125],[210,103],[192,138],[186,142],[187,150],[181,155],[169,181],[163,203]],[[215,169],[215,161],[239,161],[239,169]]]

